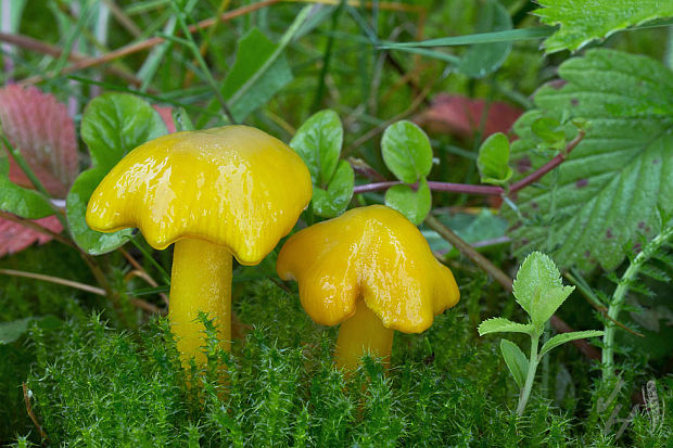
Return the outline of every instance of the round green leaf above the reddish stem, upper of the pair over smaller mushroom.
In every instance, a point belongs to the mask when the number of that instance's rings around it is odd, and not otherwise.
[[[411,121],[389,126],[381,139],[383,162],[397,179],[415,183],[432,169],[432,148],[426,132]]]

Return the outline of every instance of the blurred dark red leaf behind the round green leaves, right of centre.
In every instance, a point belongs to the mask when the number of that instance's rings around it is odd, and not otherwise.
[[[416,118],[416,123],[434,131],[471,138],[479,129],[485,105],[484,100],[440,93],[432,101],[430,108]],[[522,110],[507,103],[491,103],[486,113],[483,138],[495,132],[507,133],[522,113]]]

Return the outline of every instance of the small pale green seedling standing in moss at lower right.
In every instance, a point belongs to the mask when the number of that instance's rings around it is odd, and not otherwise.
[[[520,389],[519,405],[517,406],[518,415],[523,415],[523,410],[533,388],[535,371],[543,356],[567,342],[601,336],[604,333],[602,331],[589,330],[557,334],[547,341],[538,351],[539,336],[545,330],[545,324],[573,290],[574,286],[563,286],[560,272],[551,258],[543,253],[533,252],[519,268],[513,283],[515,298],[530,316],[530,322],[518,323],[505,318],[493,318],[479,325],[481,336],[496,332],[525,333],[531,336],[531,354],[528,358],[519,346],[511,341],[500,341],[503,358],[505,358],[505,362]]]

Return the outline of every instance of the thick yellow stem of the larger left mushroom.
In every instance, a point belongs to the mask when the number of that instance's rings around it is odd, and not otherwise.
[[[221,347],[229,351],[231,341],[231,253],[225,246],[202,240],[185,239],[175,243],[170,273],[168,320],[177,340],[185,367],[195,358],[206,361],[203,311],[217,325]]]

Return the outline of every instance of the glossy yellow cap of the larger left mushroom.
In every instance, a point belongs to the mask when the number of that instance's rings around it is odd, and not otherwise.
[[[247,126],[170,133],[129,152],[87,207],[93,230],[137,227],[157,249],[193,238],[258,264],[312,196],[308,168],[280,140]]]

